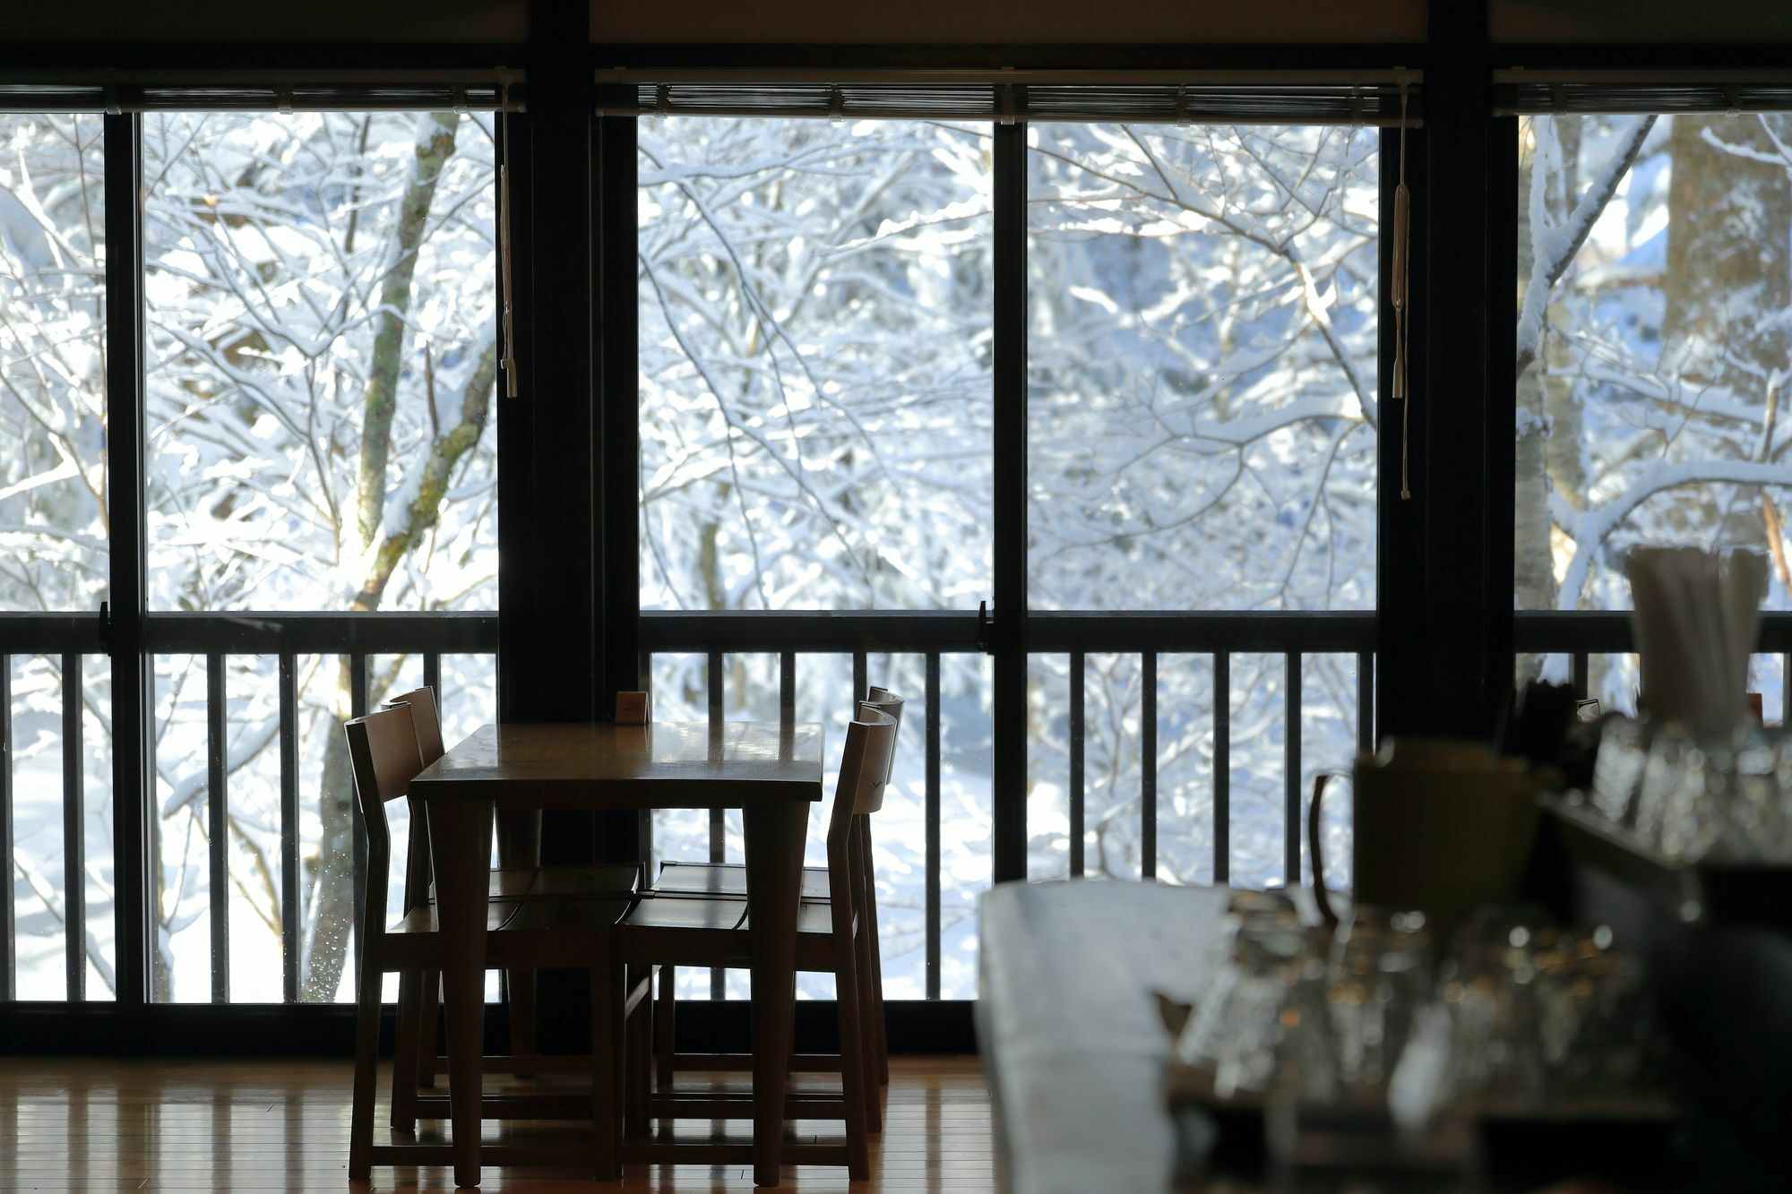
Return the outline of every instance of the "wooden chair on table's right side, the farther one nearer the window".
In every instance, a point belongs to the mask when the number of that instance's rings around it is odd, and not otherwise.
[[[874,705],[878,710],[896,719],[898,730],[901,728],[903,699],[889,688],[867,688],[862,705]],[[883,1018],[883,956],[878,948],[878,896],[876,870],[871,864],[871,818],[853,818],[853,834],[855,848],[851,852],[851,884],[857,900],[855,911],[866,921],[864,930],[858,934],[858,1008],[866,1033],[867,1063],[876,1069],[878,1083],[889,1085],[889,1036]],[[831,893],[828,870],[830,868],[826,866],[803,868],[805,902],[828,902]],[[650,895],[702,895],[744,900],[747,896],[747,870],[740,862],[665,862],[659,868],[659,877],[654,880]],[[654,1011],[656,1076],[661,1088],[672,1086],[672,1076],[677,1069],[702,1067],[706,1070],[713,1070],[720,1063],[715,1056],[681,1058],[674,1052],[672,1038],[677,1017],[674,988],[676,972],[672,966],[665,966],[659,972],[659,999]],[[753,1065],[747,1056],[737,1058],[737,1063],[740,1069],[751,1069]],[[819,1058],[797,1056],[792,1069],[806,1070],[815,1063],[826,1065],[826,1061]],[[882,1099],[873,1099],[866,1110],[871,1131],[882,1131]]]

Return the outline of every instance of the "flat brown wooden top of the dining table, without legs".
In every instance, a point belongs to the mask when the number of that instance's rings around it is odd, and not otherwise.
[[[487,724],[410,782],[418,800],[529,809],[740,809],[821,800],[808,722]]]

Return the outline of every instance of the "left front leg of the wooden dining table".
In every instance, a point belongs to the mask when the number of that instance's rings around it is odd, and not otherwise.
[[[486,886],[491,873],[491,801],[432,800],[435,914],[443,934],[448,1022],[448,1113],[455,1185],[478,1185],[486,1027]]]

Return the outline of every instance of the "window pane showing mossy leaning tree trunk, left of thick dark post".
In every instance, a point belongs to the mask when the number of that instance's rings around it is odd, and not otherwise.
[[[151,113],[143,172],[151,606],[495,608],[491,118]],[[283,943],[278,660],[224,656],[217,692],[204,654],[156,656],[158,999],[213,999],[220,913],[233,1000],[280,1000],[283,948],[299,954],[301,1000],[353,995],[339,730],[353,656],[294,665],[301,939]],[[369,705],[423,683],[416,654],[369,654],[367,669]],[[450,735],[487,721],[491,662],[448,656],[443,690]],[[208,868],[217,699],[222,905]]]

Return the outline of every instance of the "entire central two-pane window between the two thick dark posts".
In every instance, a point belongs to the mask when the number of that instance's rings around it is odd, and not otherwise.
[[[939,610],[973,627],[996,588],[1002,452],[1027,454],[1030,626],[1374,608],[1380,134],[1025,125],[1021,445],[993,420],[1009,299],[993,289],[991,203],[996,142],[1016,133],[642,120],[642,604],[649,620],[744,619],[737,651],[654,656],[658,715],[778,715],[780,653],[754,644],[754,611]],[[1283,882],[1285,764],[1305,785],[1357,749],[1355,649],[1145,658],[1104,640],[1118,620],[1079,626],[1082,651],[1027,663],[1029,875],[1072,873],[1081,853],[1091,877]],[[848,660],[797,651],[796,715],[837,744]],[[876,821],[880,918],[894,993],[919,993],[937,948],[939,993],[962,997],[989,877],[991,669],[975,647],[937,660],[937,708],[921,699],[928,653],[867,660],[916,697]],[[656,848],[738,857],[738,826],[661,816]]]

